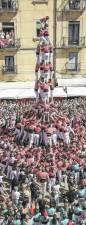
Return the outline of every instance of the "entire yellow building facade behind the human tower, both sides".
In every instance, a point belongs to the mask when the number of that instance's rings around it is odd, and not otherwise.
[[[86,74],[85,0],[0,0],[0,81],[35,80],[33,39],[45,16],[56,77]]]

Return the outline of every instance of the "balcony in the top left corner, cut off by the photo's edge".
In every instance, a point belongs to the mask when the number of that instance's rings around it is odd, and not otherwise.
[[[0,1],[0,13],[11,12],[16,13],[18,10],[18,0]]]

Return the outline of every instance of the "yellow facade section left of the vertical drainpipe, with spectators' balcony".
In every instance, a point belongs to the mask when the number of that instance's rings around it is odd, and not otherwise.
[[[0,80],[35,80],[36,43],[41,17],[49,16],[53,42],[52,0],[0,0]],[[9,38],[10,35],[10,38]]]

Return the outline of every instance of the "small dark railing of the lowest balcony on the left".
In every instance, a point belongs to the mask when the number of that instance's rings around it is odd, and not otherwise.
[[[3,66],[2,67],[2,74],[16,74],[17,73],[17,66]]]

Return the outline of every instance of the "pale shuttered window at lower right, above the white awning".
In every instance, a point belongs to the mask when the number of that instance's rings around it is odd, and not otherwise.
[[[78,70],[78,54],[75,52],[69,53],[68,70],[77,71]]]

